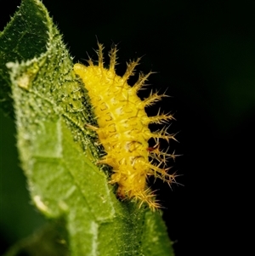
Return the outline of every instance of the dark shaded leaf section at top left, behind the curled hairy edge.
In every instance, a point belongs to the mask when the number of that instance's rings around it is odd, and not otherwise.
[[[6,63],[30,60],[46,50],[48,15],[40,1],[24,0],[19,12],[0,31],[0,107],[14,116],[10,79]]]

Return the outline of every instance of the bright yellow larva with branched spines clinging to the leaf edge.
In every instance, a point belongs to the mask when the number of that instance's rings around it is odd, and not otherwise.
[[[137,95],[139,89],[152,72],[139,74],[133,87],[127,84],[133,76],[139,60],[127,64],[125,74],[116,75],[116,46],[109,53],[110,66],[104,67],[103,45],[98,43],[98,65],[89,58],[88,66],[75,64],[73,69],[82,78],[94,108],[98,127],[88,124],[96,131],[99,142],[105,149],[105,156],[99,164],[107,164],[112,168],[111,184],[117,184],[117,196],[139,202],[139,208],[146,203],[153,211],[160,208],[156,195],[147,185],[150,176],[162,179],[168,185],[175,183],[176,174],[168,174],[167,159],[175,155],[160,150],[160,139],[175,139],[174,134],[167,133],[167,127],[151,132],[150,123],[166,123],[173,119],[170,114],[158,113],[148,117],[145,107],[153,105],[166,94],[150,94],[145,100]],[[148,140],[155,139],[156,145],[149,147]]]

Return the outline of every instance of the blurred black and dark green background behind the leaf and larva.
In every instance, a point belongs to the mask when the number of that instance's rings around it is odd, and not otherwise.
[[[20,1],[0,3],[1,26]],[[255,114],[254,1],[44,0],[76,61],[95,60],[97,39],[118,43],[117,72],[143,56],[138,70],[157,73],[150,88],[172,98],[173,171],[184,186],[156,182],[176,256],[228,252],[241,226],[233,214],[244,206],[240,186],[252,171]],[[107,61],[107,58],[106,60]],[[144,97],[145,94],[141,94]],[[149,114],[156,114],[152,107]],[[4,247],[29,235],[42,217],[29,205],[14,147],[14,123],[1,114],[1,239]],[[253,168],[254,169],[254,168]],[[238,236],[239,234],[239,236]],[[233,234],[232,234],[233,235]],[[243,234],[241,235],[243,238]],[[236,242],[238,243],[238,242]],[[1,250],[3,250],[1,247]]]

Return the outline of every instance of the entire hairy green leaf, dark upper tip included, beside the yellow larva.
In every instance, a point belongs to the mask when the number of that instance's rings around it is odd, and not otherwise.
[[[118,201],[109,168],[96,165],[102,151],[84,126],[94,124],[87,92],[40,1],[22,1],[0,51],[1,101],[5,111],[14,106],[32,201],[49,219],[65,220],[70,254],[173,255],[161,213]]]

